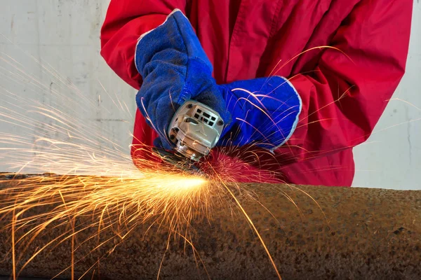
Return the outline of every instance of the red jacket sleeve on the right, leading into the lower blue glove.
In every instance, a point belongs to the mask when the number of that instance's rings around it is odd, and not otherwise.
[[[290,77],[302,113],[276,154],[285,164],[366,141],[406,67],[412,0],[361,1],[323,50],[314,72]]]

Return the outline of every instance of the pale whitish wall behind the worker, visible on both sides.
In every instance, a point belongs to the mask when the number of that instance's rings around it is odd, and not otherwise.
[[[99,55],[99,31],[108,2],[2,0],[0,33],[6,38],[0,36],[0,57],[11,56],[17,61],[15,65],[40,80],[46,89],[34,90],[29,83],[16,83],[8,78],[8,71],[17,73],[18,70],[10,70],[10,65],[0,61],[0,97],[15,102],[10,94],[5,95],[6,89],[21,97],[53,104],[51,90],[55,89],[75,99],[81,98],[75,90],[63,88],[57,77],[34,61],[42,60],[64,77],[64,83],[67,77],[84,97],[93,100],[94,105],[89,107],[62,106],[62,110],[95,123],[98,133],[107,131],[109,138],[115,139],[128,153],[133,118],[127,111],[115,110],[115,104],[105,98],[107,94],[100,86],[102,83],[108,94],[118,96],[127,104],[128,111],[135,111],[134,90],[116,77]],[[354,186],[421,189],[421,120],[417,121],[421,118],[420,18],[421,3],[415,0],[407,73],[394,94],[394,98],[403,101],[390,102],[372,137],[354,149],[357,169]],[[0,133],[20,133],[18,127],[0,125]],[[98,145],[106,148],[101,145],[107,144]],[[0,162],[0,171],[6,169],[5,164]]]

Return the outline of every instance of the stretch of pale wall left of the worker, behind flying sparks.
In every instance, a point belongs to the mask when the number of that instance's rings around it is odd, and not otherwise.
[[[32,102],[30,100],[34,100],[57,107],[63,115],[68,114],[76,119],[68,120],[69,123],[76,123],[78,128],[90,130],[91,134],[95,135],[95,139],[92,140],[95,142],[93,148],[97,151],[105,151],[106,148],[113,149],[116,144],[122,146],[123,151],[130,155],[128,145],[131,144],[133,130],[131,113],[133,114],[136,109],[134,102],[136,92],[123,83],[99,55],[100,27],[109,1],[1,1],[0,34],[4,36],[0,36],[0,52],[2,52],[0,53],[0,99],[2,101],[6,99],[10,102],[9,104],[25,103],[25,107],[14,109],[18,113],[35,118],[41,123],[41,127],[25,130],[16,125],[0,122],[0,134],[25,135],[33,139],[35,136],[44,136],[50,139],[64,139],[72,143],[76,141],[74,138],[65,139],[65,134],[43,130],[45,125],[56,123],[51,118],[25,113],[30,105],[28,103]],[[11,59],[15,59],[16,62],[10,65],[2,61],[1,57],[8,62]],[[22,69],[22,72],[18,67]],[[25,75],[29,75],[34,80],[21,77]],[[79,92],[69,85],[70,81],[80,90]],[[38,82],[42,85],[37,86]],[[100,83],[107,92],[102,89]],[[25,100],[17,100],[18,98],[13,97],[13,94],[25,97]],[[112,98],[109,98],[108,94]],[[66,103],[66,96],[76,104],[68,104],[69,100]],[[114,102],[117,106],[119,102],[127,104],[128,110],[126,107],[124,110],[116,109]],[[1,109],[0,113],[2,113]],[[107,136],[114,143],[101,141],[98,139],[100,135]],[[32,150],[39,151],[43,148],[42,142],[34,140],[33,142],[34,144],[29,146]],[[94,144],[89,145],[94,146]],[[2,144],[0,141],[0,148],[1,146],[13,145]],[[28,158],[31,160],[30,155]],[[8,163],[16,160],[13,154],[6,160],[2,160],[0,155],[0,172],[6,171]],[[24,159],[20,161],[23,162]],[[25,169],[25,171],[37,172],[39,170]]]

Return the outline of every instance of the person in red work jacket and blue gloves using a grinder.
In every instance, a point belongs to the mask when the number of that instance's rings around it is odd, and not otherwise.
[[[413,1],[112,0],[101,54],[136,97],[132,157],[171,149],[188,99],[225,123],[206,160],[234,181],[351,186],[406,67]],[[235,147],[235,148],[233,148]]]

